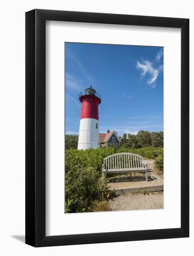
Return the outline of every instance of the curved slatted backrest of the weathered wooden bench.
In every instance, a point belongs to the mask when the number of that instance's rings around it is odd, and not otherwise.
[[[104,158],[103,165],[104,170],[145,168],[142,160],[142,156],[133,153],[117,153]]]

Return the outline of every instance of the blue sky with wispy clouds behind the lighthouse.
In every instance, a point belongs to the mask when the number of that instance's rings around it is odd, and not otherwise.
[[[101,95],[100,132],[163,131],[163,47],[65,43],[66,134],[78,134],[80,91]]]

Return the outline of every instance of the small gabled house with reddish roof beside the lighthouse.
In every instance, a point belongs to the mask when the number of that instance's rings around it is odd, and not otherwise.
[[[101,147],[106,147],[110,144],[117,144],[120,146],[120,139],[115,131],[107,130],[107,133],[99,133],[99,142]]]

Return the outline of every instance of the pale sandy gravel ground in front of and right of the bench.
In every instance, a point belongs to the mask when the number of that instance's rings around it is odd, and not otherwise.
[[[154,160],[144,160],[148,168],[153,170]],[[163,184],[161,175],[155,172],[151,174],[154,179]],[[113,211],[118,210],[140,210],[140,209],[162,209],[163,208],[163,192],[131,193],[119,195],[109,201],[109,206]]]

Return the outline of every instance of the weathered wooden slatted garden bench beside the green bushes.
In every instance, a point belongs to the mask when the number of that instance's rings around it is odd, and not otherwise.
[[[112,173],[130,173],[143,172],[146,174],[146,182],[148,182],[147,172],[150,170],[143,162],[143,157],[133,153],[117,153],[109,155],[103,160],[102,179],[104,174]]]

